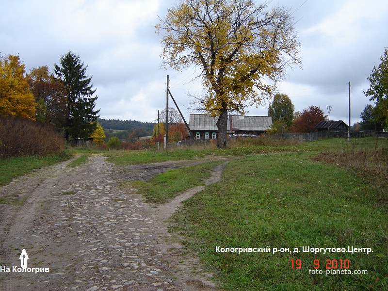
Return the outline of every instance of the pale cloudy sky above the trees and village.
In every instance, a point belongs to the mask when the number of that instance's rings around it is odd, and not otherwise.
[[[158,16],[175,0],[0,0],[0,53],[17,54],[26,65],[54,64],[67,51],[79,54],[97,88],[97,109],[105,119],[154,122],[165,107],[166,75],[170,91],[188,118],[190,94],[202,86],[199,71],[161,68]],[[370,103],[363,91],[373,65],[388,47],[387,0],[272,0],[287,6],[296,22],[303,69],[287,71],[278,84],[296,111],[310,105],[332,106],[330,120],[351,124]],[[194,80],[194,81],[193,81]],[[173,105],[170,100],[170,105]],[[247,115],[267,115],[268,102]]]

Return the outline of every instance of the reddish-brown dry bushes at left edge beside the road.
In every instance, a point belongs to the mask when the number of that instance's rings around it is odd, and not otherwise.
[[[0,116],[0,158],[46,156],[64,148],[64,138],[50,125]]]

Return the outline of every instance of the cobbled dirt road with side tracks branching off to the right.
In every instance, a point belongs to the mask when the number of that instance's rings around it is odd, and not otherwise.
[[[211,274],[202,272],[165,222],[203,186],[157,208],[122,186],[193,162],[123,170],[94,155],[75,168],[67,163],[0,188],[0,198],[9,202],[0,204],[1,291],[216,290]],[[217,181],[224,166],[206,183]],[[23,249],[28,259],[20,257]]]

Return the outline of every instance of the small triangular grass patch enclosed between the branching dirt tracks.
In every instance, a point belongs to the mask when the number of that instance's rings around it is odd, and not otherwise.
[[[166,171],[148,181],[130,181],[127,186],[143,194],[147,202],[166,203],[185,190],[204,185],[210,171],[221,162],[207,162]]]

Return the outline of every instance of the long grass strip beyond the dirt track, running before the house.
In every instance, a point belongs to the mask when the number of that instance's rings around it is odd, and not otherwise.
[[[205,156],[245,156],[261,153],[282,152],[344,152],[349,148],[355,150],[387,147],[387,140],[375,138],[328,139],[314,142],[296,142],[292,140],[273,140],[270,137],[258,139],[236,139],[229,141],[229,147],[216,148],[214,144],[198,146],[174,146],[168,150],[115,150],[103,152],[109,162],[117,166],[131,164],[166,162],[178,160],[194,160]]]

